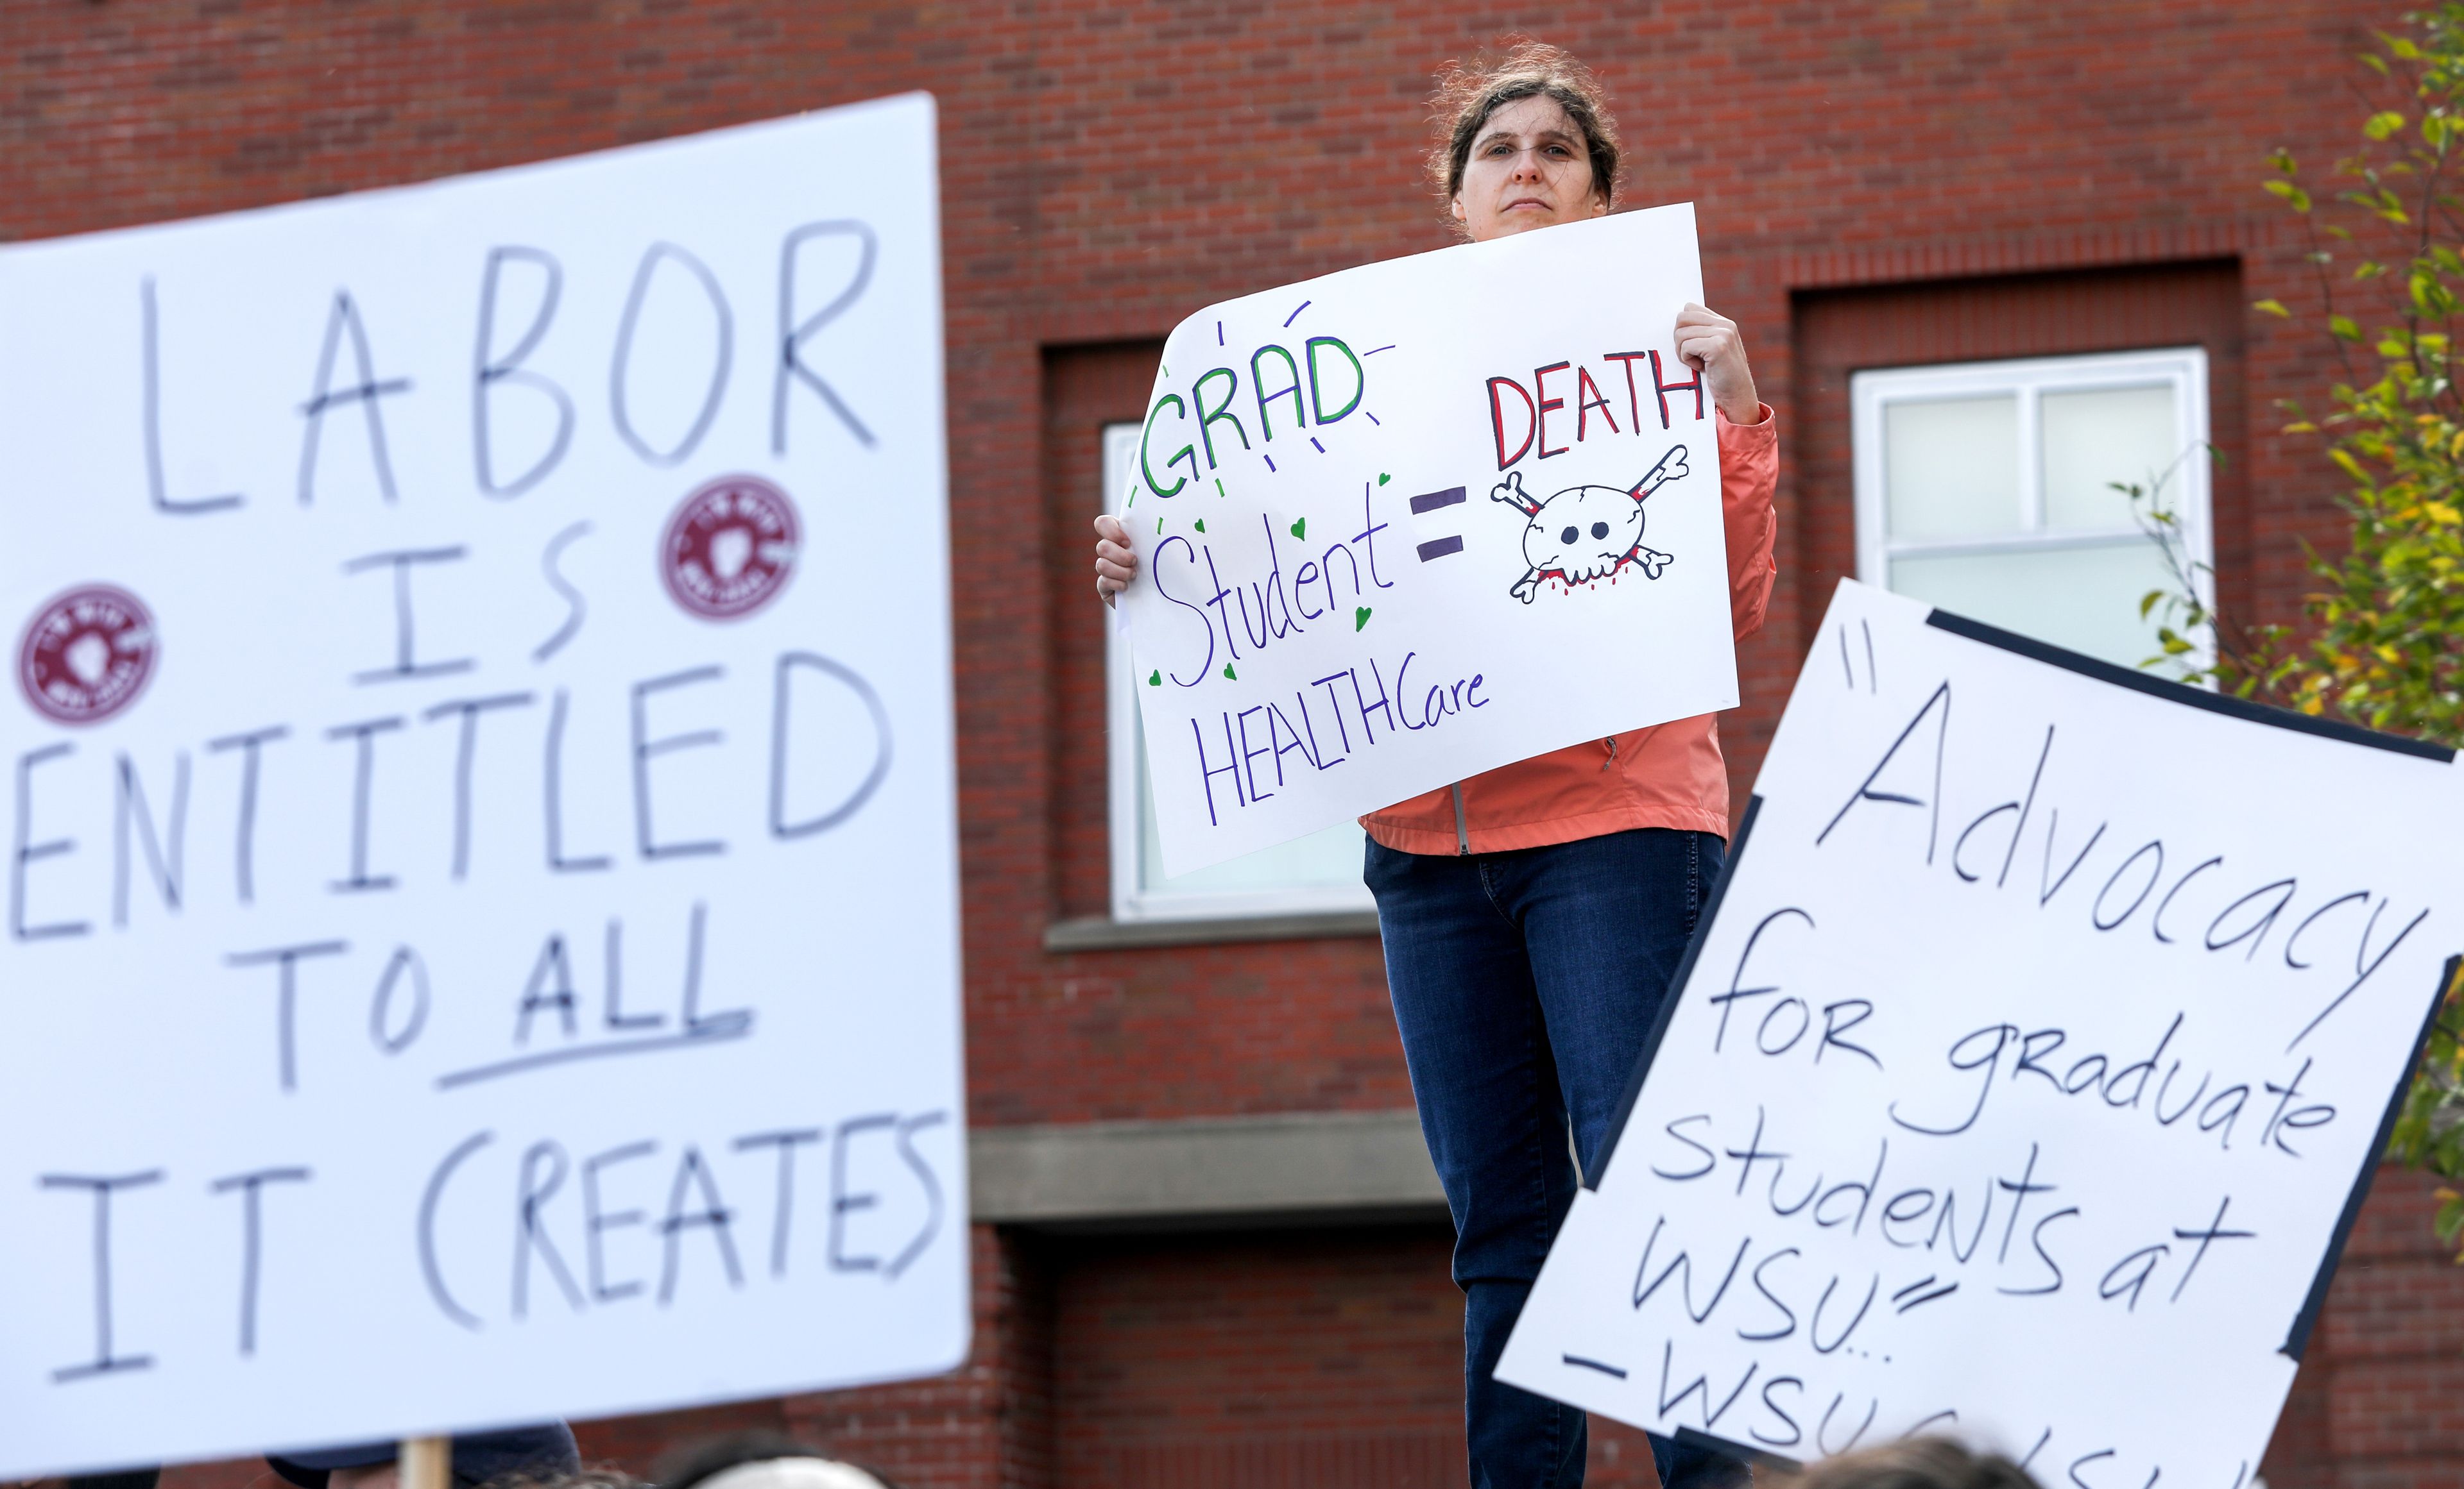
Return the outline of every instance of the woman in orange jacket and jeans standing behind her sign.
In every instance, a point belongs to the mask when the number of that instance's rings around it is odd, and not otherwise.
[[[1439,96],[1451,128],[1432,175],[1471,241],[1609,212],[1616,126],[1572,57],[1523,44],[1449,71]],[[1688,305],[1676,349],[1717,404],[1730,618],[1745,637],[1772,593],[1779,438],[1732,320]],[[1111,603],[1138,559],[1119,519],[1099,517],[1096,534],[1096,593]],[[1720,876],[1717,726],[1705,714],[1570,746],[1360,824],[1395,1021],[1454,1211],[1471,1482],[1582,1484],[1584,1413],[1491,1376],[1574,1201],[1574,1164],[1597,1169]],[[1663,1437],[1651,1452],[1668,1489],[1752,1477]]]

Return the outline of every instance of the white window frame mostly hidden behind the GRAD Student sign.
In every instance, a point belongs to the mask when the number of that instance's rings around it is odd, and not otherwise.
[[[1141,423],[1104,426],[1104,487],[1096,512],[1114,512],[1129,500],[1131,470],[1138,460]],[[1104,615],[1104,753],[1109,758],[1109,832],[1111,832],[1111,918],[1114,920],[1244,920],[1259,916],[1340,916],[1375,911],[1368,884],[1316,884],[1249,891],[1151,891],[1141,888],[1146,824],[1141,822],[1138,780],[1138,677],[1131,669],[1129,637],[1111,613]]]

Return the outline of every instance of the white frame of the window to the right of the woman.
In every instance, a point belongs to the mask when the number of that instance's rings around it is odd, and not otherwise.
[[[2020,357],[2008,362],[1947,362],[1937,367],[1878,367],[1848,377],[1850,453],[1855,463],[1855,576],[1887,588],[1890,559],[2011,554],[2045,549],[2104,546],[2117,537],[2141,537],[2136,527],[2060,529],[2045,522],[2045,458],[2040,443],[2040,401],[2045,394],[2085,394],[2107,389],[2173,389],[2178,453],[2166,477],[2163,502],[2181,517],[2181,541],[2190,559],[2198,598],[2215,605],[2215,522],[2208,487],[2208,352],[2205,347],[2158,347],[2146,352],[2092,352],[2082,357]],[[1882,413],[1890,404],[1937,399],[2018,399],[2018,500],[2020,532],[1976,539],[1890,541],[1882,485]],[[2139,480],[2131,473],[2124,480]],[[2141,537],[2141,541],[2146,541]],[[2200,650],[2183,657],[2205,665],[2208,637],[2190,637]]]

